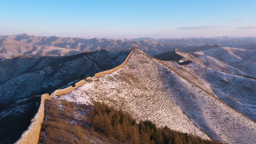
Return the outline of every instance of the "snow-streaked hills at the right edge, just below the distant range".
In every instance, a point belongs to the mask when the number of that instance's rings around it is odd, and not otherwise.
[[[256,50],[237,49],[237,48],[210,48],[195,52],[205,64],[229,65],[232,73],[256,77]],[[230,68],[231,67],[231,68]],[[239,71],[237,71],[237,70]]]

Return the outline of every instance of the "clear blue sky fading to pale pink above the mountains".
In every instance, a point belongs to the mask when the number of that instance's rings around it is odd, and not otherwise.
[[[0,0],[0,34],[256,37],[256,0]]]

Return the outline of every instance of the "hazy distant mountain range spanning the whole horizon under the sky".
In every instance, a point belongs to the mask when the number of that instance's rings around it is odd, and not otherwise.
[[[205,45],[208,45],[205,47]],[[213,45],[213,46],[212,46]],[[0,35],[0,58],[21,55],[55,55],[68,56],[81,52],[92,52],[100,49],[127,50],[137,48],[149,55],[172,51],[178,48],[182,52],[200,51],[202,48],[218,47],[256,49],[256,38],[214,37],[186,39],[152,39],[149,37],[131,40],[82,39],[72,37],[44,37],[18,34]],[[202,47],[203,46],[203,47]]]

